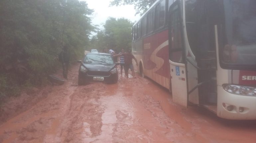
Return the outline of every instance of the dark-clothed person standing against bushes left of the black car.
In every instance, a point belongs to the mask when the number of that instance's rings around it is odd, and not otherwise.
[[[67,71],[68,71],[68,65],[69,65],[69,53],[68,53],[67,45],[64,45],[62,52],[59,55],[59,59],[62,62],[63,77],[67,79]]]

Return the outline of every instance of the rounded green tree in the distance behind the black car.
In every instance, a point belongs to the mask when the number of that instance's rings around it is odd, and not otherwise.
[[[104,30],[98,31],[92,37],[92,47],[101,50],[103,48],[114,49],[120,52],[121,49],[131,48],[133,23],[125,18],[108,18],[105,22]]]

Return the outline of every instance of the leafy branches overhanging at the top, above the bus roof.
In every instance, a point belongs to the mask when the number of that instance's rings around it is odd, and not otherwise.
[[[136,10],[135,15],[142,15],[155,1],[156,0],[113,0],[110,2],[110,6],[134,5],[134,9]]]

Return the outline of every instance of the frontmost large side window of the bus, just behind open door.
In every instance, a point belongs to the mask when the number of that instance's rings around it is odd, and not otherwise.
[[[158,29],[165,25],[165,1],[162,0],[156,5],[155,11],[155,29]]]

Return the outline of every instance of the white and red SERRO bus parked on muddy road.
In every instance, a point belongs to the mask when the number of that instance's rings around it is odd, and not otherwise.
[[[256,119],[255,0],[157,0],[133,25],[132,51],[174,102]]]

